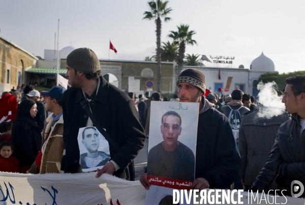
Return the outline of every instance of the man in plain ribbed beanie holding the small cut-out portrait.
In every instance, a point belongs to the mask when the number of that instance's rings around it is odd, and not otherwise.
[[[79,128],[96,126],[102,127],[112,139],[108,141],[111,160],[98,169],[96,177],[109,173],[133,181],[133,159],[145,144],[144,130],[134,102],[105,80],[101,75],[99,58],[89,48],[75,49],[67,56],[66,77],[71,88],[63,96],[65,155],[61,169],[65,173],[81,172],[77,141]],[[85,104],[98,125],[83,109]]]

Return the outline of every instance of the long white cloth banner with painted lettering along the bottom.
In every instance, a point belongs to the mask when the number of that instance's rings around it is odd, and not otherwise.
[[[100,178],[95,177],[96,172],[78,174],[21,174],[0,172],[0,204],[23,204],[23,205],[144,205],[146,189],[139,181],[130,182],[103,174]],[[153,185],[152,185],[153,186]],[[152,188],[152,187],[150,187]],[[207,194],[208,192],[210,194]],[[229,190],[206,189],[204,199],[200,194],[195,200],[199,204],[294,204],[304,205],[305,199],[284,196],[272,196],[267,193],[237,192],[230,191],[231,199],[224,199],[224,192]],[[168,192],[156,195],[160,200],[166,195],[174,196],[179,204],[193,204],[192,197],[180,191]],[[191,193],[192,194],[192,193]],[[183,195],[183,196],[182,196]],[[242,197],[240,197],[242,195]],[[230,198],[229,196],[229,198]],[[181,201],[184,198],[184,202]],[[158,204],[158,203],[157,203]],[[194,203],[196,204],[196,203]],[[197,203],[198,204],[198,203]],[[221,204],[221,203],[218,203]]]

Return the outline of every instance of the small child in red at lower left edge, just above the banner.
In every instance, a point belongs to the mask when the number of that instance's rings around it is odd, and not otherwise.
[[[13,156],[13,144],[11,141],[0,143],[0,171],[18,172],[19,161]]]

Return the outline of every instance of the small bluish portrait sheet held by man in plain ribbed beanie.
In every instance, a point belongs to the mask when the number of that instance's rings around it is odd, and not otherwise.
[[[110,161],[109,143],[96,127],[80,128],[77,140],[83,172],[101,169]]]

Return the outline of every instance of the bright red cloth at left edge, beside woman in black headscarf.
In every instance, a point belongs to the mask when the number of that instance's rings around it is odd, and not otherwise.
[[[11,94],[6,94],[0,99],[0,107],[0,123],[14,122],[17,115],[17,99]]]

